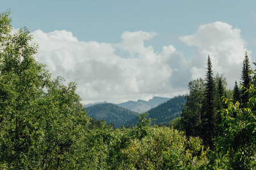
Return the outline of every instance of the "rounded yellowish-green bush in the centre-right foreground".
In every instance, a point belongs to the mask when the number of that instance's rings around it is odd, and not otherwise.
[[[151,128],[150,135],[135,138],[122,154],[123,169],[199,169],[207,167],[207,151],[199,138],[190,138],[170,128]]]

